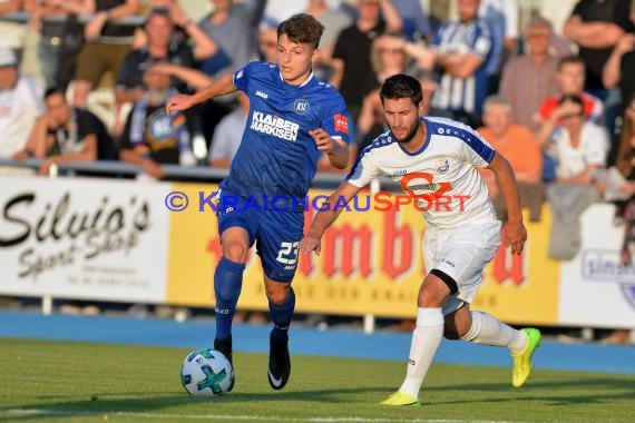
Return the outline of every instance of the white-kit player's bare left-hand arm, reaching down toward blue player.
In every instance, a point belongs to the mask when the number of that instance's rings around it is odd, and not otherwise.
[[[344,198],[348,204],[360,191],[360,189],[362,188],[344,181],[333,194],[331,194],[326,203],[313,218],[313,223],[311,224],[309,232],[300,242],[300,252],[302,254],[315,252],[315,255],[320,255],[324,230],[326,230],[326,228],[338,219],[338,216],[340,216],[340,213],[344,209],[341,198]]]

